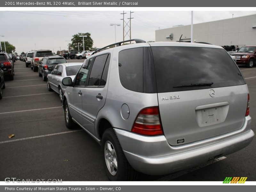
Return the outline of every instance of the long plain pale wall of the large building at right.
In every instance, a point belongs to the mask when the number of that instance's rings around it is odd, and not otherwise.
[[[256,45],[256,14],[194,24],[194,40],[215,45]],[[156,41],[190,41],[190,25],[156,30]],[[166,38],[173,34],[173,39]]]

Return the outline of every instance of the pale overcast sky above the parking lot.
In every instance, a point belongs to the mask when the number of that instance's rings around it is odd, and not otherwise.
[[[130,12],[125,12],[124,20],[128,22]],[[191,23],[191,11],[132,12],[131,36],[145,41],[155,41],[158,29]],[[35,49],[50,49],[56,53],[68,50],[73,35],[89,32],[93,47],[100,48],[115,43],[115,27],[110,23],[121,24],[116,26],[116,41],[123,40],[121,13],[123,11],[0,11],[0,41],[14,45],[18,54]],[[193,23],[252,14],[256,11],[194,11]],[[125,30],[128,32],[129,28]],[[128,35],[126,39],[129,39]]]

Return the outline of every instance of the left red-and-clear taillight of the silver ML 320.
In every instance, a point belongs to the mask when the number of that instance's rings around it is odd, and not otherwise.
[[[163,135],[158,107],[142,109],[133,124],[132,132],[148,136]]]

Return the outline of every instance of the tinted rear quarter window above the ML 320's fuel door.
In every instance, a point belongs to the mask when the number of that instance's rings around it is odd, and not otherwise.
[[[143,48],[119,52],[119,78],[124,88],[143,92]]]

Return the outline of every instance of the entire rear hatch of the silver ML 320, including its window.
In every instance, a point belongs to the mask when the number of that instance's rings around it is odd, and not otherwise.
[[[182,145],[240,129],[248,89],[224,49],[152,47],[159,112],[170,145]]]

